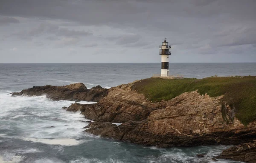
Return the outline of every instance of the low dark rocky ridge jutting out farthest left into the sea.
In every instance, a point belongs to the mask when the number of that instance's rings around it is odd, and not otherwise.
[[[33,86],[33,88],[12,93],[13,96],[41,96],[44,94],[47,94],[47,97],[52,100],[99,101],[108,94],[108,89],[101,86],[87,89],[83,83],[75,83],[67,86]]]

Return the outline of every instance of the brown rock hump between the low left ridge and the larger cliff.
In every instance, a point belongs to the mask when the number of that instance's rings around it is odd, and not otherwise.
[[[143,94],[131,91],[130,85],[121,85],[109,90],[108,95],[96,104],[74,103],[67,111],[80,110],[87,119],[99,122],[123,123],[129,120],[143,120],[157,108],[159,103],[151,103]]]

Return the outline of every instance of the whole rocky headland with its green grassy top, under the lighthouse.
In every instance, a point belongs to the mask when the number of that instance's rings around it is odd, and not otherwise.
[[[255,77],[150,78],[108,90],[100,86],[87,89],[78,83],[13,93],[21,94],[98,101],[74,103],[66,109],[81,111],[93,121],[85,132],[101,137],[163,148],[238,145],[219,158],[256,163],[248,159],[256,155],[255,142],[251,143],[256,140]]]

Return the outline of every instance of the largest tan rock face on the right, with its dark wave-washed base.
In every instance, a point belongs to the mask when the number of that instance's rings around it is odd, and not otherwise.
[[[106,98],[108,96],[102,100]],[[148,108],[154,105],[148,103]],[[233,108],[222,105],[221,97],[202,96],[193,91],[157,103],[157,106],[160,107],[151,108],[150,114],[146,118],[141,117],[141,120],[129,120],[119,126],[110,123],[112,121],[102,123],[99,120],[90,123],[86,131],[102,137],[159,147],[239,144],[256,136],[256,125],[250,123],[245,127],[236,117],[231,117]],[[96,108],[97,104],[93,107]]]

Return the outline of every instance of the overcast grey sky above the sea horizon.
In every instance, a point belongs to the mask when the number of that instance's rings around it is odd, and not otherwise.
[[[0,63],[256,62],[256,0],[0,0]]]

